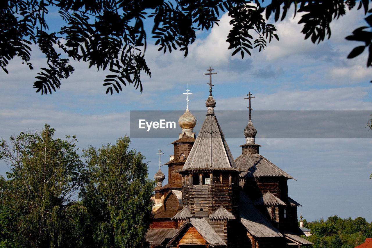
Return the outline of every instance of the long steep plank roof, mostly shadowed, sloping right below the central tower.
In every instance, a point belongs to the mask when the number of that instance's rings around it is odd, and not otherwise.
[[[283,237],[258,209],[247,200],[249,197],[240,190],[239,215],[240,221],[247,231],[257,238]],[[242,201],[243,200],[243,201]]]

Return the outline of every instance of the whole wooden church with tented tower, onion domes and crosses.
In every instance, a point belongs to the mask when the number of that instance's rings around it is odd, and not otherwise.
[[[154,220],[146,235],[149,247],[308,247],[297,226],[297,207],[288,197],[294,179],[259,154],[257,130],[251,120],[244,129],[246,144],[234,160],[214,113],[209,67],[206,118],[195,136],[196,118],[188,109],[179,118],[182,133],[164,174],[155,174]],[[187,93],[188,90],[187,90]],[[161,151],[159,151],[160,156]],[[160,159],[159,159],[160,160]]]

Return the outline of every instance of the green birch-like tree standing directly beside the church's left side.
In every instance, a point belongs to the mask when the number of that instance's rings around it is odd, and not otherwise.
[[[84,150],[89,176],[81,189],[92,219],[91,247],[141,247],[152,218],[154,182],[141,153],[129,149],[129,137],[100,149]]]

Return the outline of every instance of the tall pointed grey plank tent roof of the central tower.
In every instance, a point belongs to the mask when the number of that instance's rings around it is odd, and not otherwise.
[[[238,169],[215,115],[207,115],[181,171]]]

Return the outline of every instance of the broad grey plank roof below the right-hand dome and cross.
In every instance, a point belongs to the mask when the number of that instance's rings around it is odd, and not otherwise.
[[[241,172],[239,177],[285,177],[295,179],[259,153],[241,154],[235,159],[235,164],[239,169],[248,171]]]

